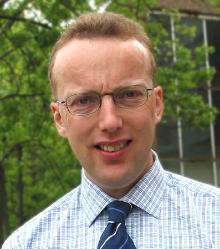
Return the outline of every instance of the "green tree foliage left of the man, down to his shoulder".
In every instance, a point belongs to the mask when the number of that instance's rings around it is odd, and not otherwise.
[[[80,181],[80,166],[53,125],[47,66],[61,24],[89,7],[85,1],[13,2],[1,3],[0,10],[0,170],[5,175],[0,181],[7,194],[7,205],[0,208],[7,216],[0,222],[0,244]]]

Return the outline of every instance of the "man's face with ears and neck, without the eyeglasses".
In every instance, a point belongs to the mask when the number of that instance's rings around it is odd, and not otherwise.
[[[132,84],[153,87],[150,55],[136,40],[74,39],[58,51],[53,76],[59,100]],[[68,139],[86,176],[109,195],[123,196],[150,169],[155,124],[163,112],[160,87],[136,108],[117,107],[105,95],[101,108],[89,116],[72,115],[57,103],[51,109],[59,134]]]

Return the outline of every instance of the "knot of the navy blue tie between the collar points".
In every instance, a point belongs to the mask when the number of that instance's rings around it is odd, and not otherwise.
[[[113,201],[107,206],[109,221],[124,222],[132,209],[130,203],[124,201]]]

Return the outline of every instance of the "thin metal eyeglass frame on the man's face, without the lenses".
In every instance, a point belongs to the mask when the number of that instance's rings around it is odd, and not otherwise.
[[[95,91],[93,92],[93,91],[91,91],[90,93],[93,93],[94,95],[96,95],[96,96],[98,97],[97,99],[99,100],[99,102],[98,102],[99,104],[97,105],[97,108],[95,108],[92,112],[84,113],[84,114],[73,113],[73,112],[71,112],[71,111],[69,110],[69,107],[68,107],[68,104],[67,104],[67,99],[70,98],[70,97],[72,97],[72,96],[86,95],[87,92],[85,92],[85,93],[73,93],[73,94],[69,95],[68,97],[66,97],[65,100],[56,100],[55,102],[58,103],[58,104],[64,104],[65,107],[66,107],[66,109],[68,110],[68,112],[69,112],[71,115],[76,115],[76,116],[89,116],[89,115],[91,115],[91,114],[97,112],[97,111],[101,108],[101,106],[102,106],[102,98],[103,98],[104,96],[106,96],[106,95],[110,95],[110,96],[112,97],[112,100],[113,100],[113,102],[114,102],[114,104],[115,104],[116,106],[118,106],[118,107],[120,107],[120,108],[123,108],[123,109],[130,109],[130,107],[121,106],[121,105],[118,103],[117,99],[115,99],[115,92],[117,92],[117,91],[119,91],[119,90],[121,90],[121,89],[126,89],[126,88],[129,88],[129,87],[136,87],[136,86],[143,87],[143,88],[145,89],[147,95],[146,95],[145,101],[144,101],[143,103],[141,103],[141,104],[139,104],[139,105],[133,107],[133,108],[135,108],[135,107],[142,106],[142,105],[144,105],[144,104],[147,102],[147,100],[149,99],[149,97],[152,95],[152,93],[149,94],[148,92],[149,92],[149,91],[153,91],[153,90],[154,90],[154,87],[152,87],[152,88],[147,88],[147,87],[144,86],[144,85],[136,84],[136,85],[130,85],[130,86],[125,86],[125,87],[116,88],[116,89],[113,90],[111,93],[103,93],[103,94],[100,94],[100,93],[98,93],[98,92],[95,92]],[[89,92],[88,92],[88,93],[89,93]],[[89,95],[89,94],[88,94],[88,95]],[[131,108],[132,108],[132,107],[131,107]]]

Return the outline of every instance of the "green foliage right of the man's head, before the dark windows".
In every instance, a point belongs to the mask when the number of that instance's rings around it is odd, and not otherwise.
[[[163,87],[165,94],[163,122],[181,118],[184,127],[207,128],[217,114],[216,108],[209,106],[204,95],[207,83],[214,75],[213,68],[206,68],[206,51],[212,53],[213,48],[205,48],[202,41],[197,47],[188,47],[185,42],[196,39],[196,26],[184,24],[178,12],[164,10],[164,15],[172,16],[174,21],[176,38],[172,41],[171,31],[146,14],[156,2],[112,1],[108,10],[136,20],[151,37],[156,61],[160,65],[156,84]]]

